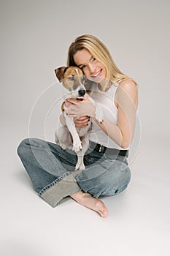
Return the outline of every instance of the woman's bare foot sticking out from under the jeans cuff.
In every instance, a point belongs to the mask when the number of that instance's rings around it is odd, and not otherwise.
[[[101,217],[108,216],[108,211],[106,206],[104,206],[104,203],[98,198],[94,198],[90,194],[84,193],[82,191],[74,193],[70,196],[74,200],[76,200],[77,203],[80,203],[82,206],[88,207],[91,210],[96,211],[98,214],[100,214]]]

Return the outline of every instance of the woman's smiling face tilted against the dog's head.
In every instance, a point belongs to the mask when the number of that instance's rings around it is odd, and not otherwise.
[[[83,70],[89,80],[101,83],[106,78],[107,72],[104,64],[91,56],[87,49],[78,50],[73,57],[74,62]]]

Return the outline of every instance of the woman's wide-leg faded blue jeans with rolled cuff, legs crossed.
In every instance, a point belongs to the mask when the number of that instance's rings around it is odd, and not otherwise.
[[[55,207],[82,190],[93,197],[122,192],[131,179],[127,157],[102,154],[89,148],[84,157],[85,170],[75,171],[77,155],[45,140],[27,138],[18,146],[18,155],[31,178],[34,189]]]

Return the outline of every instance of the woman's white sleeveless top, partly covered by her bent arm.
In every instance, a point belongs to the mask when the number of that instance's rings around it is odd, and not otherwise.
[[[94,99],[98,105],[101,106],[104,116],[112,121],[113,124],[117,124],[117,108],[114,103],[115,93],[118,86],[112,84],[112,86],[107,91],[100,91],[98,86],[92,89],[90,97]],[[114,140],[109,138],[103,130],[92,120],[92,129],[90,131],[90,141],[106,146],[107,148],[117,148],[117,149],[128,149],[121,148]]]

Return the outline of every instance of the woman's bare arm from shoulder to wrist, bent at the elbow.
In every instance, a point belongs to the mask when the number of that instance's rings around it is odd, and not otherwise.
[[[117,124],[113,124],[107,118],[104,118],[102,124],[96,122],[115,143],[122,148],[128,148],[134,136],[138,105],[138,89],[133,81],[125,80],[120,84],[115,105],[117,105]]]

